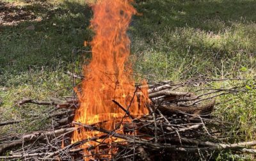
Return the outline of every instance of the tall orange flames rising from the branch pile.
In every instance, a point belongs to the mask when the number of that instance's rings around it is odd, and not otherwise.
[[[124,133],[122,124],[131,123],[131,118],[127,115],[124,118],[124,109],[134,117],[148,114],[147,88],[135,90],[131,64],[128,63],[130,40],[126,32],[136,10],[129,0],[99,0],[93,5],[93,13],[91,27],[95,31],[95,36],[90,43],[92,60],[83,68],[85,79],[81,84],[81,93],[77,91],[80,105],[74,121],[106,130],[116,130],[117,133],[122,134]],[[124,109],[118,107],[113,100]],[[121,119],[122,123],[120,123]],[[102,135],[106,134],[79,128],[74,132],[72,142]],[[97,141],[89,141],[81,145],[80,148],[84,149],[85,155],[90,156],[84,157],[85,160],[95,158],[93,153],[100,151],[97,146],[99,142],[103,141],[111,145],[111,142],[121,139],[108,137]],[[95,146],[93,153],[88,150],[92,146]],[[111,146],[109,149],[111,150],[102,155],[104,158],[110,158],[117,150]]]

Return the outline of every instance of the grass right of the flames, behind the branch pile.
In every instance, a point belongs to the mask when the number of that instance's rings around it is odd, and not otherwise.
[[[241,66],[255,68],[255,1],[166,0],[136,6],[143,16],[134,20],[132,49],[140,54],[141,72],[152,79],[234,77]]]

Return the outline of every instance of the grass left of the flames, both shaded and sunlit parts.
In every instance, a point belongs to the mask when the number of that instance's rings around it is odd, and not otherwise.
[[[68,96],[72,93],[72,79],[65,72],[81,71],[81,58],[88,50],[84,40],[90,40],[88,29],[92,11],[87,4],[77,1],[47,1],[21,3],[23,10],[33,11],[39,22],[25,21],[17,26],[0,26],[0,111],[1,119],[30,118],[52,107],[17,106],[23,97],[47,100],[49,97]],[[35,30],[26,30],[34,25]],[[77,54],[72,50],[77,49]],[[81,60],[81,61],[80,61]],[[40,130],[42,120],[17,125],[13,132]],[[45,125],[45,123],[43,123]],[[13,126],[12,126],[13,127]],[[4,127],[1,132],[10,132]]]

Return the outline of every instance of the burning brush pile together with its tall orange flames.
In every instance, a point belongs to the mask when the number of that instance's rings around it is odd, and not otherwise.
[[[182,158],[184,154],[198,157],[216,150],[255,153],[245,147],[256,142],[218,143],[216,127],[223,123],[212,121],[209,115],[214,97],[241,89],[209,89],[204,93],[202,84],[213,80],[142,81],[135,85],[126,34],[136,13],[130,3],[100,0],[93,5],[92,61],[83,68],[77,96],[51,98],[50,102],[21,100],[19,105],[54,105],[61,112],[45,116],[53,120],[49,131],[1,137],[0,153],[9,152],[0,159],[179,160],[188,159]],[[191,89],[193,92],[188,92]]]

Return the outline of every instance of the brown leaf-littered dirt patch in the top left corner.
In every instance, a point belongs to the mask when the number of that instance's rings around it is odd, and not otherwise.
[[[17,25],[24,20],[35,20],[33,11],[28,11],[22,6],[16,6],[13,3],[0,2],[0,26]]]

